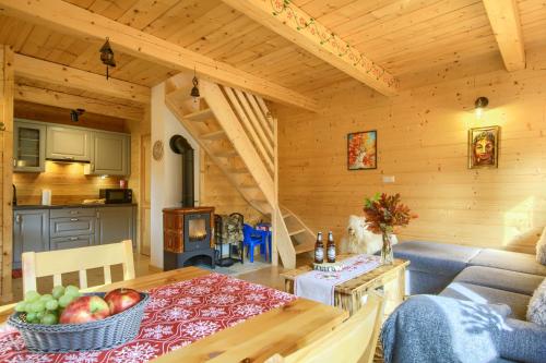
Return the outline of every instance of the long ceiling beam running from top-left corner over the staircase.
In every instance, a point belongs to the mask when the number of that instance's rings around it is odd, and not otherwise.
[[[297,92],[61,0],[0,0],[0,14],[45,25],[88,40],[109,37],[115,51],[122,51],[178,71],[195,69],[209,80],[285,105],[308,110],[318,108],[314,99]]]

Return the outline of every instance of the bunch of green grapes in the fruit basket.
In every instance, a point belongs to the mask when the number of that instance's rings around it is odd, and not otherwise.
[[[75,286],[56,286],[51,293],[40,295],[36,291],[25,293],[23,301],[15,305],[15,312],[28,324],[59,324],[59,315],[73,300],[81,297]]]

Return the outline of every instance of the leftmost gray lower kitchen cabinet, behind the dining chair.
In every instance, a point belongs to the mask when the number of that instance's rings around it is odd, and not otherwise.
[[[28,209],[13,213],[13,268],[21,268],[23,252],[49,250],[49,210]]]

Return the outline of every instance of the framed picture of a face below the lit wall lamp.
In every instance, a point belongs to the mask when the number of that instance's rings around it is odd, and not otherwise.
[[[498,168],[500,126],[468,130],[468,168]]]

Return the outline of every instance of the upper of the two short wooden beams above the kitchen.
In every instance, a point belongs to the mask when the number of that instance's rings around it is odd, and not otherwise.
[[[149,87],[116,78],[106,80],[106,76],[100,74],[37,58],[15,55],[14,68],[15,76],[127,99],[143,105],[150,104],[151,99]]]

